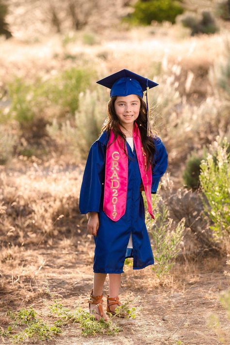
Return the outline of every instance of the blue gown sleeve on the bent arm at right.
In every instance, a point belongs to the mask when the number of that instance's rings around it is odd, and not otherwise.
[[[168,166],[168,154],[162,140],[157,137],[154,139],[154,143],[156,152],[154,155],[155,164],[152,168],[152,194],[156,194],[161,177],[164,175]]]

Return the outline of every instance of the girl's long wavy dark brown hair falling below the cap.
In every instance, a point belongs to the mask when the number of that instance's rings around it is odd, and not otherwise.
[[[135,120],[135,122],[138,125],[138,128],[140,130],[140,134],[141,134],[141,141],[142,141],[142,145],[143,148],[146,152],[146,156],[147,156],[147,162],[148,164],[153,164],[153,157],[154,154],[156,152],[156,148],[153,142],[153,136],[151,134],[151,136],[147,136],[147,107],[146,107],[146,103],[145,101],[138,96],[138,98],[140,99],[141,102],[141,106],[140,106],[140,112],[139,112],[139,116],[137,117],[137,119]],[[116,115],[115,112],[115,100],[117,99],[117,96],[111,97],[109,102],[108,102],[108,107],[107,107],[107,120],[106,122],[103,124],[101,131],[108,131],[110,132],[110,130],[112,129],[114,131],[115,134],[115,140],[117,138],[118,135],[120,135],[123,140],[124,140],[124,151],[126,153],[125,147],[126,147],[126,136],[125,134],[120,130],[119,125],[121,125],[118,116]]]

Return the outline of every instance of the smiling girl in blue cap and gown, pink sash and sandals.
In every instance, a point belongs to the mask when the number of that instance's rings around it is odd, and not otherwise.
[[[152,213],[151,193],[156,193],[167,168],[167,152],[162,140],[153,136],[143,92],[158,84],[123,69],[100,81],[111,89],[107,122],[90,148],[79,209],[89,214],[87,230],[94,235],[94,282],[89,310],[99,320],[107,320],[102,308],[102,289],[109,274],[107,312],[120,306],[119,288],[126,258],[133,269],[154,263],[145,225],[145,191],[148,212]],[[124,312],[117,316],[125,317]]]

